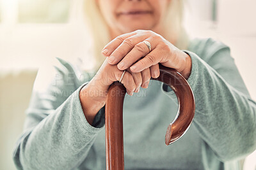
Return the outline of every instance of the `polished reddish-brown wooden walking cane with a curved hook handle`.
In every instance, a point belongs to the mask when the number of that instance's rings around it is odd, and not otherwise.
[[[159,64],[160,76],[151,78],[169,85],[175,92],[179,109],[173,122],[168,125],[165,144],[177,141],[188,130],[195,115],[195,98],[188,81],[175,69]],[[125,87],[116,81],[109,87],[105,107],[106,168],[124,169],[123,104]]]

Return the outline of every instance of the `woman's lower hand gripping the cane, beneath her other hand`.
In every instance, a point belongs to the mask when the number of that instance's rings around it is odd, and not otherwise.
[[[123,73],[124,71],[118,69],[116,65],[109,64],[106,59],[97,74],[81,89],[79,98],[89,124],[92,125],[95,115],[106,104],[109,86],[119,81]],[[150,75],[147,76],[150,78]],[[130,69],[127,69],[121,83],[124,84],[127,94],[132,96],[133,92],[139,92],[141,73],[132,73]]]

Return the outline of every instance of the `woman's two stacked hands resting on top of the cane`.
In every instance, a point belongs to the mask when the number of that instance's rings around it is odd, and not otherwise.
[[[151,51],[143,43],[151,44]],[[191,71],[191,59],[169,41],[152,31],[138,30],[122,34],[108,43],[102,50],[107,57],[92,80],[81,89],[79,98],[88,122],[92,124],[97,112],[106,104],[109,86],[119,81],[131,95],[147,88],[150,78],[159,76],[159,63],[176,69],[184,78]]]

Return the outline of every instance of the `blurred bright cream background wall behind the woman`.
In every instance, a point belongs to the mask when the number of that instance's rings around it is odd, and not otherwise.
[[[187,0],[184,20],[192,37],[212,37],[230,46],[253,99],[255,7],[255,0]],[[85,55],[90,37],[82,8],[83,0],[0,0],[0,169],[15,169],[12,151],[38,67],[53,57]],[[244,169],[256,169],[255,154],[245,160]]]

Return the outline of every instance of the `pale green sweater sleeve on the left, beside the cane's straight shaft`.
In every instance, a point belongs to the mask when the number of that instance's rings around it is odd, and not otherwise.
[[[81,108],[79,91],[89,80],[61,59],[38,71],[24,131],[13,152],[18,169],[74,169],[88,156],[104,126],[104,120],[90,125]],[[98,114],[102,112],[104,108]]]

